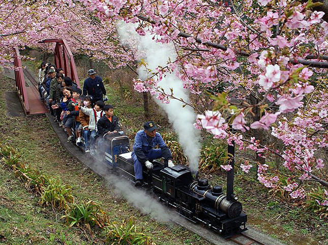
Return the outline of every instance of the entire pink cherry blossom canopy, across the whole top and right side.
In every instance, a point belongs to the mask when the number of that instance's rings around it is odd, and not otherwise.
[[[149,91],[168,103],[174,91],[165,93],[158,81],[174,72],[197,97],[187,104],[199,112],[196,127],[256,152],[258,162],[246,161],[243,171],[256,164],[261,183],[284,189],[292,198],[306,195],[305,183],[328,187],[325,2],[323,7],[311,0],[57,0],[5,5],[10,7],[1,14],[6,21],[0,24],[0,63],[8,60],[13,45],[35,46],[40,39],[63,37],[76,52],[109,58],[111,67],[130,64],[140,58],[134,40],[129,50],[121,47],[115,22],[134,23],[141,36],[151,33],[156,42],[173,43],[177,54],[166,66],[150,71],[150,79],[134,81],[137,91]],[[253,137],[246,138],[249,130]],[[265,142],[264,130],[278,144]],[[282,159],[285,170],[268,162],[273,156]]]

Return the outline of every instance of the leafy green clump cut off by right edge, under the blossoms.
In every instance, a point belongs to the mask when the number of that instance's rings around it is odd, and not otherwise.
[[[320,219],[326,219],[328,217],[328,206],[320,205],[325,200],[327,200],[327,196],[323,189],[320,187],[317,189],[312,188],[311,192],[308,194],[307,200],[304,201],[302,205],[314,213],[319,214]]]

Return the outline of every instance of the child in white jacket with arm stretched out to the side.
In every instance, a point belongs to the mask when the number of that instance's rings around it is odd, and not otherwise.
[[[90,135],[90,154],[95,154],[95,139],[97,136],[97,122],[103,116],[104,101],[98,100],[94,108],[81,107],[80,111],[89,116],[88,135]],[[84,132],[83,132],[84,134]]]

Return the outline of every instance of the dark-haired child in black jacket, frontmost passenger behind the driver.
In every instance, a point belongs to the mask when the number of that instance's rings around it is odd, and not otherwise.
[[[114,107],[111,104],[104,106],[105,115],[97,123],[98,136],[103,137],[107,132],[116,133],[121,130],[118,118],[114,116]]]

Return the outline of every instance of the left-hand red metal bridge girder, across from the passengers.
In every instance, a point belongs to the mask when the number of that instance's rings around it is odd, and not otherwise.
[[[25,87],[25,79],[24,73],[22,68],[22,60],[20,58],[18,47],[14,48],[14,66],[15,66],[15,80],[16,80],[16,89],[18,91],[19,99],[22,102],[24,107],[24,111],[26,115],[29,114],[29,105],[28,105],[28,98],[27,92]]]

